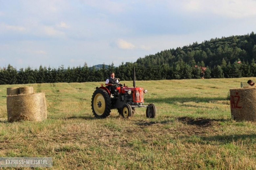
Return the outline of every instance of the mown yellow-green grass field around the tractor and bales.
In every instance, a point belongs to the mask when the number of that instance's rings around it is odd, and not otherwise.
[[[94,118],[91,97],[102,82],[28,84],[45,93],[48,119],[14,123],[6,88],[24,85],[1,85],[0,157],[52,157],[52,169],[256,169],[256,123],[232,120],[226,100],[248,79],[137,81],[155,119],[144,108],[130,119],[117,110]]]

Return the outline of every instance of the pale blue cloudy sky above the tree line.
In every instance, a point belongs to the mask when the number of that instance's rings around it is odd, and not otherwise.
[[[256,0],[0,0],[0,67],[135,62],[256,32]]]

